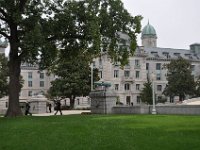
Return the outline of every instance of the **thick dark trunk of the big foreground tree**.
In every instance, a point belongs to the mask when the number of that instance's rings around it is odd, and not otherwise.
[[[11,28],[10,39],[10,54],[9,54],[9,105],[5,114],[6,117],[21,116],[22,111],[19,105],[19,92],[20,92],[20,66],[21,59],[18,56],[18,38],[17,38],[17,26]]]

